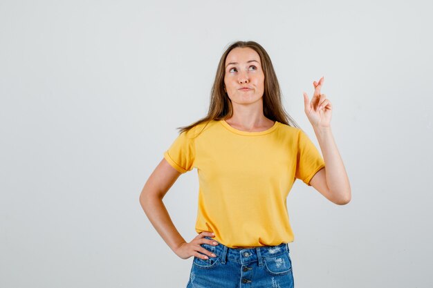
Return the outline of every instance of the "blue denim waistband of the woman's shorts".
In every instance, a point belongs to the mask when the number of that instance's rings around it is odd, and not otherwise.
[[[228,260],[236,261],[242,264],[249,262],[259,262],[262,265],[262,260],[270,257],[276,257],[289,251],[288,243],[282,243],[277,246],[259,246],[253,248],[230,248],[220,242],[205,236],[206,239],[213,240],[218,243],[214,246],[211,244],[201,244],[201,247],[212,251],[216,257],[221,258],[221,262],[225,264]]]

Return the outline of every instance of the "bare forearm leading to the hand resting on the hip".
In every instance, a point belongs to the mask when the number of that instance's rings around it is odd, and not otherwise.
[[[143,197],[140,198],[140,204],[151,224],[173,251],[181,243],[186,242],[174,226],[162,199],[150,196]]]

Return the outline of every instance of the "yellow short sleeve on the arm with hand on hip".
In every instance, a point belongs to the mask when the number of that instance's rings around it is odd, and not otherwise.
[[[195,158],[194,128],[179,134],[164,152],[164,158],[181,173],[191,171],[194,168]]]

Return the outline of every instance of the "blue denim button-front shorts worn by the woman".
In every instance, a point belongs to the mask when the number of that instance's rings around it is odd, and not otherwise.
[[[230,248],[221,243],[200,246],[216,257],[194,256],[187,288],[294,287],[288,243],[254,248]]]

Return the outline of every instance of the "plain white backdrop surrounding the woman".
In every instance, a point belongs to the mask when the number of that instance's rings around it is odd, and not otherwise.
[[[317,148],[302,92],[333,104],[352,200],[295,182],[295,287],[432,287],[433,5],[304,2],[1,0],[0,287],[186,287],[138,196],[237,40]],[[197,193],[194,169],[164,198],[187,241]]]

